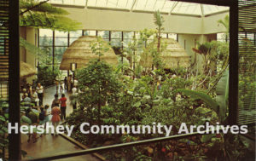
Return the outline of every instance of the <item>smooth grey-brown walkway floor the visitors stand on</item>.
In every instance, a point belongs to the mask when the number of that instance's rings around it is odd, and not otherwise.
[[[44,91],[44,105],[51,104],[51,101],[54,99],[55,95],[55,86],[45,89]],[[61,94],[59,94],[61,95]],[[68,95],[65,93],[67,97],[67,115],[73,112],[73,108],[69,103]],[[50,109],[49,109],[50,111]],[[26,151],[26,158],[23,159],[32,159],[32,158],[41,158],[46,157],[53,154],[63,153],[63,152],[74,152],[81,150],[80,147],[77,147],[72,142],[67,141],[61,135],[52,136],[52,135],[44,135],[43,137],[39,137],[38,141],[32,143],[32,141],[27,142],[27,135],[21,135],[21,150]],[[73,158],[63,158],[58,159],[61,161],[96,161],[98,158],[92,155],[84,155]]]

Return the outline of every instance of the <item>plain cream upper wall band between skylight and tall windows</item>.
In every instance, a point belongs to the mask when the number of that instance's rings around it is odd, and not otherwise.
[[[118,10],[61,8],[70,13],[67,15],[69,18],[81,22],[84,30],[140,31],[146,27],[153,29],[156,27],[153,14]],[[217,23],[217,20],[224,19],[224,15],[216,14],[201,19],[193,16],[163,14],[164,32],[183,34],[224,32],[224,27],[218,26]],[[208,27],[209,29],[207,29]]]

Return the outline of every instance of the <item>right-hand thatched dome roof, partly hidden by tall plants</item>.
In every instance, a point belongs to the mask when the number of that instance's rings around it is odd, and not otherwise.
[[[166,43],[166,49],[161,53],[160,58],[165,63],[165,68],[188,67],[190,56],[186,51],[172,38],[162,38],[161,43]],[[145,54],[142,55],[140,64],[144,67],[151,67],[153,58]]]

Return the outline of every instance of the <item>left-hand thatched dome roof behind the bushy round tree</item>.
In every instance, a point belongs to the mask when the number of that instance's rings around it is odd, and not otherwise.
[[[65,51],[61,60],[61,70],[71,70],[71,64],[77,63],[77,68],[86,66],[90,60],[98,59],[98,55],[92,53],[90,43],[96,41],[95,36],[82,36],[74,41]],[[108,51],[101,56],[101,60],[116,65],[118,63],[117,55],[114,54],[111,46],[104,41]]]

